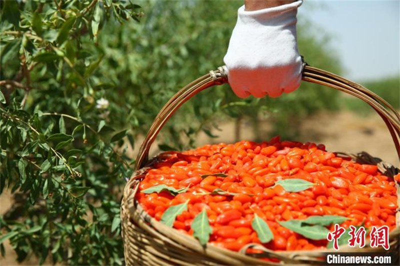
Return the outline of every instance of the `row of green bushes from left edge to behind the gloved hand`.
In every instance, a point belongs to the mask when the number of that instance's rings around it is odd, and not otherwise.
[[[14,199],[0,217],[2,255],[9,240],[19,261],[123,263],[119,202],[134,140],[178,87],[222,64],[242,1],[222,3],[1,2],[0,192]],[[338,72],[322,44],[300,25],[308,63]],[[334,96],[308,84],[277,99],[211,88],[181,107],[160,146],[194,145],[226,116],[268,115],[289,132]]]

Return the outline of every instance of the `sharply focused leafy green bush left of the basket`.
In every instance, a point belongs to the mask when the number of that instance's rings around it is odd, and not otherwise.
[[[18,195],[1,217],[1,240],[10,239],[19,261],[34,253],[40,263],[50,256],[121,264],[118,202],[131,159],[119,150],[126,131],[105,125],[107,108],[95,106],[102,83],[94,72],[102,59],[98,31],[107,19],[115,26],[137,20],[138,6],[1,5],[0,189]]]

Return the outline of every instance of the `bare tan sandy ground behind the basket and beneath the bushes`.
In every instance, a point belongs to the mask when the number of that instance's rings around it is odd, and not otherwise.
[[[265,135],[265,139],[269,139],[271,135],[269,133],[270,125],[268,121],[262,121],[260,124],[261,136]],[[310,117],[298,126],[300,127],[300,134],[294,140],[324,143],[326,149],[330,151],[367,151],[384,161],[399,166],[390,133],[378,115],[359,116],[350,111],[322,112]],[[222,131],[213,132],[219,135],[218,138],[209,138],[205,134],[200,134],[197,141],[198,145],[216,142],[234,142],[234,123],[222,124],[220,128]],[[242,122],[241,139],[253,139],[254,135],[250,128],[248,122]],[[136,143],[140,143],[139,140]],[[135,150],[131,153],[134,154],[134,152]],[[0,203],[1,215],[12,204],[8,192],[0,196]],[[0,258],[0,265],[17,265],[16,255],[8,241],[5,242],[5,249],[6,256]],[[21,265],[35,265],[37,262],[38,260],[31,256]],[[50,264],[50,261],[46,262]]]

